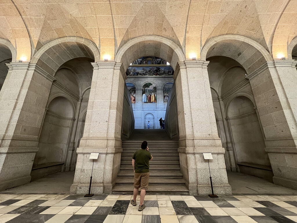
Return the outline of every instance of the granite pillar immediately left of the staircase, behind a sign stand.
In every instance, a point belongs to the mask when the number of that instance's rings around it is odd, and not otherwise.
[[[77,148],[77,163],[71,193],[86,194],[94,162],[91,192],[110,194],[121,163],[121,125],[125,72],[121,63],[97,62],[94,67],[83,138]]]

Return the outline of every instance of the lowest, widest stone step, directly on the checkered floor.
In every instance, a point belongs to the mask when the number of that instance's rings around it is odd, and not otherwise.
[[[140,190],[140,189],[139,189]],[[133,194],[133,185],[122,185],[116,183],[112,190],[113,194]],[[149,185],[146,194],[184,194],[188,195],[189,190],[186,185],[175,184],[154,184]]]

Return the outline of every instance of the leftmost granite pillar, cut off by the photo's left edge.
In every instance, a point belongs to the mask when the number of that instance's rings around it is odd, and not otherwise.
[[[29,183],[53,76],[29,63],[7,64],[0,95],[0,190]]]

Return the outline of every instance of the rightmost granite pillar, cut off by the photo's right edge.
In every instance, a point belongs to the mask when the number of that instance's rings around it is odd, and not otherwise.
[[[249,74],[276,184],[297,188],[297,71],[293,60],[267,62]]]

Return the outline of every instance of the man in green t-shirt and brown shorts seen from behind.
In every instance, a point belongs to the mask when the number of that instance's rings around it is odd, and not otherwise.
[[[133,206],[136,206],[138,189],[141,188],[138,211],[142,211],[146,207],[143,204],[143,201],[149,185],[149,161],[152,159],[153,156],[151,156],[151,153],[149,152],[148,142],[143,141],[141,143],[141,149],[137,150],[132,157],[132,166],[134,169],[134,191],[133,200],[131,200],[130,203]]]

